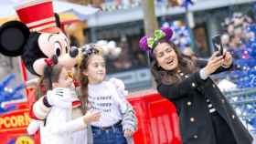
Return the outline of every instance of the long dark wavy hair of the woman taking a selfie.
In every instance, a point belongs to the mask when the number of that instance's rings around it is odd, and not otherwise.
[[[160,40],[155,46],[161,43],[167,43],[170,45],[176,52],[177,60],[178,60],[178,66],[177,68],[180,69],[184,74],[191,74],[197,71],[196,63],[194,60],[192,60],[190,57],[187,57],[183,54],[181,54],[176,45],[173,42]],[[152,63],[151,63],[151,73],[155,77],[155,82],[157,85],[163,83],[163,84],[174,84],[177,82],[180,82],[183,80],[182,77],[178,74],[177,70],[165,70],[164,68],[160,67],[157,64],[155,53],[152,52]]]

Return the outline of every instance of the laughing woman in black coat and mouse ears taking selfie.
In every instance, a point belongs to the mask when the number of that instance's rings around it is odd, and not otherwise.
[[[144,36],[140,47],[153,58],[157,90],[176,105],[183,143],[251,144],[250,133],[209,77],[230,69],[229,52],[215,52],[204,65],[181,55],[172,35],[169,27],[162,27],[153,37]]]

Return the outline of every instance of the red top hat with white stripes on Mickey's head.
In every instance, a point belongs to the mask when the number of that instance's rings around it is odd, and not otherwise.
[[[30,31],[56,27],[52,0],[29,0],[16,6],[16,14]]]

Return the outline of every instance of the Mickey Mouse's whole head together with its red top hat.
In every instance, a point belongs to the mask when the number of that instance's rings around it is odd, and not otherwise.
[[[78,49],[70,48],[68,37],[57,27],[50,0],[26,2],[16,7],[22,22],[10,21],[0,27],[0,53],[21,56],[28,71],[41,76],[46,59],[58,58],[58,65],[74,67]]]

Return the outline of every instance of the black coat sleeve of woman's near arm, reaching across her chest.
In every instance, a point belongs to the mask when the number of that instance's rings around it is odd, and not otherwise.
[[[162,97],[175,100],[177,98],[186,97],[189,92],[202,86],[204,83],[205,80],[201,79],[199,71],[197,71],[179,83],[171,85],[160,84],[157,86],[157,90]]]

